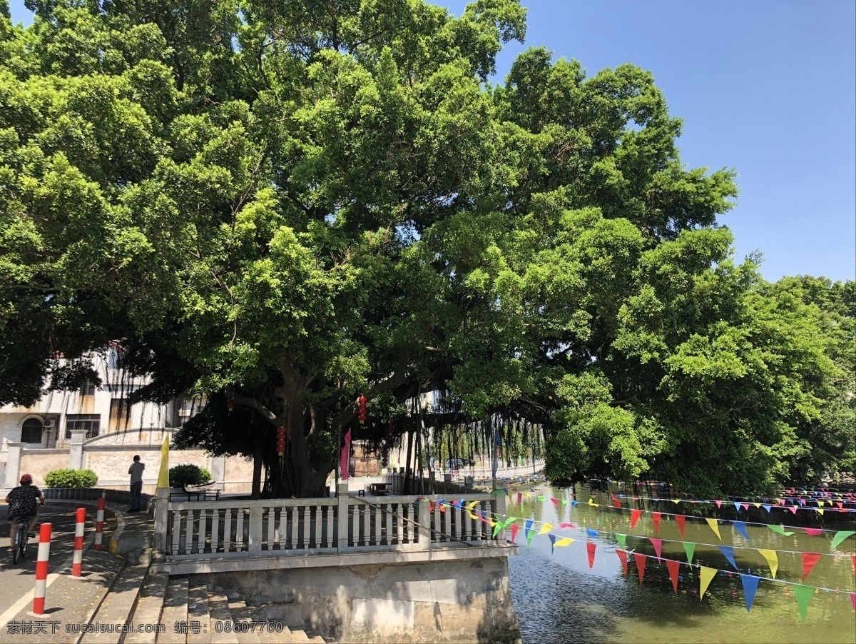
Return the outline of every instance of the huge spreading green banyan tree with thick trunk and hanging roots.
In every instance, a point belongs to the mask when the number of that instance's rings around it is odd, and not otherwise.
[[[257,494],[321,492],[348,428],[496,414],[557,476],[746,489],[847,379],[817,307],[732,261],[734,173],[681,164],[650,73],[530,49],[488,81],[517,0],[28,6],[0,27],[0,402],[116,340],[132,400],[204,395],[176,443],[252,456]]]

